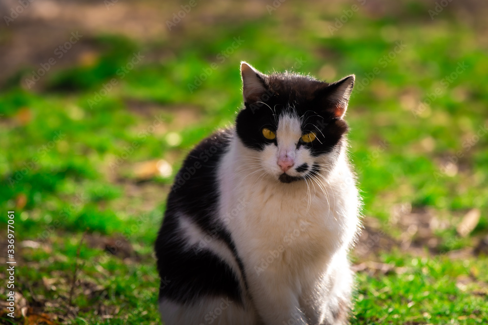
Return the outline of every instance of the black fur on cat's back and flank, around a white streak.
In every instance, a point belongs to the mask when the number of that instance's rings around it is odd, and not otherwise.
[[[204,247],[185,248],[178,230],[178,213],[183,213],[211,240],[224,242],[233,253],[245,283],[244,265],[232,236],[224,225],[216,222],[219,199],[216,172],[230,134],[230,130],[224,130],[204,139],[188,154],[176,176],[155,244],[162,279],[160,298],[191,304],[203,296],[223,296],[243,304],[244,288],[230,266]]]

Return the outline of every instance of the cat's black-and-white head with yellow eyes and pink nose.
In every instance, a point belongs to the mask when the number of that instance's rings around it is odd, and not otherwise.
[[[241,74],[245,107],[236,131],[252,151],[242,159],[283,183],[330,170],[345,146],[354,75],[327,83],[292,73],[265,75],[245,62]]]

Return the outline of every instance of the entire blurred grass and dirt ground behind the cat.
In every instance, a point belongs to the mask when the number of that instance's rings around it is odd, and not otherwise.
[[[164,200],[185,153],[232,124],[241,60],[356,74],[351,323],[488,322],[486,2],[18,5],[0,5],[0,222],[16,211],[21,295],[1,324],[159,323]]]

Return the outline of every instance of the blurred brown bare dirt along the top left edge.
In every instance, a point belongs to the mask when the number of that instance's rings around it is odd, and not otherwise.
[[[265,4],[260,0],[245,2],[219,1],[219,3],[199,2],[198,7],[181,19],[171,30],[166,21],[182,10],[180,1],[126,0],[36,0],[30,2],[8,25],[0,24],[0,86],[19,71],[21,80],[32,75],[52,57],[45,74],[52,74],[90,57],[96,57],[98,49],[89,39],[99,35],[124,35],[144,44],[161,43],[168,40],[172,48],[177,47],[185,34],[194,35],[202,31],[203,25],[218,22],[235,24],[238,21],[267,15]],[[17,0],[0,1],[0,11],[10,16],[12,8],[19,6]],[[3,16],[3,15],[2,15]],[[3,20],[3,19],[2,19]],[[62,57],[54,52],[69,41],[72,33],[82,35]],[[57,52],[59,53],[59,52]],[[94,55],[95,54],[95,55]],[[174,56],[168,49],[161,53],[147,53],[148,58],[161,60]],[[41,77],[41,79],[44,79]],[[21,83],[23,86],[24,82]],[[32,89],[42,89],[42,82]],[[29,89],[31,89],[29,87]]]

